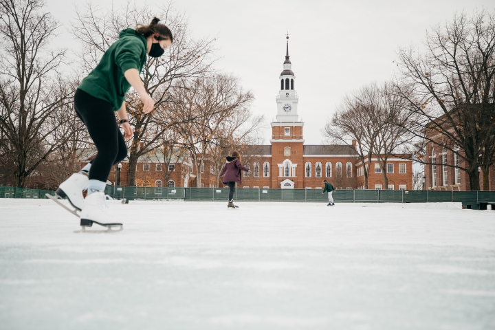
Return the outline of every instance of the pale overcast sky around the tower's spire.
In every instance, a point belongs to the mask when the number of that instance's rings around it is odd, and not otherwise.
[[[46,1],[47,9],[67,26],[74,17],[74,3]],[[114,0],[113,5],[125,2]],[[112,5],[111,0],[94,3]],[[147,1],[152,8],[161,3],[165,2]],[[239,76],[243,87],[254,92],[252,110],[266,118],[265,144],[270,144],[270,122],[276,117],[287,31],[305,144],[320,144],[322,127],[346,93],[392,78],[399,46],[420,44],[428,28],[452,19],[454,12],[471,13],[483,7],[494,12],[495,1],[181,0],[173,4],[186,13],[192,36],[217,36],[221,57],[217,67]],[[61,35],[69,37],[64,29]]]

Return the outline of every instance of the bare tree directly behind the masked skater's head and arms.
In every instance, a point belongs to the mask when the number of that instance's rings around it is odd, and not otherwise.
[[[147,24],[159,17],[173,32],[174,42],[161,58],[148,58],[141,75],[146,91],[155,100],[155,111],[142,113],[142,102],[133,89],[126,97],[126,110],[134,135],[129,148],[129,185],[135,181],[137,159],[160,146],[163,134],[173,126],[174,117],[170,109],[169,89],[177,79],[194,78],[212,71],[211,58],[214,39],[193,39],[188,29],[185,14],[177,13],[171,5],[159,10],[146,5],[137,7],[128,1],[109,12],[87,4],[84,11],[76,8],[77,20],[72,25],[74,36],[83,45],[80,63],[89,72],[100,61],[102,54],[118,39],[121,30],[135,28],[138,23]]]

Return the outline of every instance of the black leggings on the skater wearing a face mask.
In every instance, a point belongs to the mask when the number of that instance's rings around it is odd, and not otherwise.
[[[115,120],[112,105],[81,89],[74,95],[74,107],[83,120],[98,154],[91,161],[89,179],[107,182],[111,167],[127,155],[127,146]]]

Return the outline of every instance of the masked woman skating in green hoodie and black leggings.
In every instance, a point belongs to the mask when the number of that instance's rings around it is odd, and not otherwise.
[[[150,113],[154,102],[142,85],[140,72],[146,54],[159,57],[173,42],[172,32],[156,17],[149,25],[135,30],[122,30],[118,41],[109,47],[100,63],[80,83],[74,95],[74,107],[83,120],[98,151],[96,157],[79,173],[74,173],[56,190],[81,210],[81,220],[109,222],[104,188],[111,167],[127,155],[124,138],[133,136],[127,121],[125,96],[132,86],[144,104],[143,112]],[[120,133],[117,120],[124,129]],[[87,188],[84,199],[83,190]]]

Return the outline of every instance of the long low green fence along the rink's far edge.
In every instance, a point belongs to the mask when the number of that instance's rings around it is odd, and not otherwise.
[[[1,187],[0,198],[46,198],[50,190]],[[113,199],[183,201],[226,201],[228,188],[155,188],[107,186],[105,193]],[[327,201],[327,193],[320,189],[270,189],[237,188],[236,201]],[[336,203],[430,203],[456,201],[463,206],[486,208],[495,203],[495,191],[430,191],[430,190],[337,190],[333,192]]]

